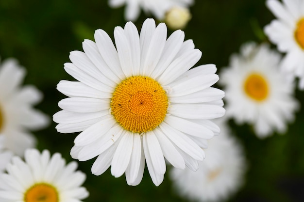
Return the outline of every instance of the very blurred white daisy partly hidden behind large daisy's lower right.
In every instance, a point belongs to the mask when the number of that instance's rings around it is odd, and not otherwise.
[[[170,170],[169,176],[180,196],[199,202],[226,201],[243,184],[247,166],[242,146],[227,126],[219,125],[220,135],[208,140],[206,158],[200,162],[199,170]]]

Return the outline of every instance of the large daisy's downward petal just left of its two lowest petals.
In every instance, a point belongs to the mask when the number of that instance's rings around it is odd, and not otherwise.
[[[130,131],[122,136],[111,163],[111,173],[114,177],[120,177],[127,169],[133,147],[134,134]]]

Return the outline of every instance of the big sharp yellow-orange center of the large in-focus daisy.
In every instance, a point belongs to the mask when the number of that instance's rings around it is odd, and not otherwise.
[[[121,81],[111,100],[116,121],[134,133],[153,130],[164,121],[167,109],[165,90],[149,77],[133,76]]]

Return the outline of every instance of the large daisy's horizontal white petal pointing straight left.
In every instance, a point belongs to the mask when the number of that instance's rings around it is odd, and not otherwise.
[[[71,112],[89,113],[110,109],[110,101],[88,97],[68,97],[59,101],[58,106]]]

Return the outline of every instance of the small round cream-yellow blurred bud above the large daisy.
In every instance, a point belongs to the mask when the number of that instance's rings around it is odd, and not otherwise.
[[[189,9],[185,7],[173,7],[167,13],[165,22],[172,30],[183,29],[191,19]]]

